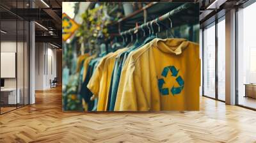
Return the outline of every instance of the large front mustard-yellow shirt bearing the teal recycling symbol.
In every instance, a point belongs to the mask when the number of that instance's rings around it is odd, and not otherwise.
[[[172,94],[172,87],[179,87],[164,68],[175,66],[184,80],[184,87],[179,94]],[[159,79],[164,79],[159,90]],[[156,38],[127,57],[121,73],[116,96],[115,111],[148,110],[199,110],[200,57],[197,43],[185,39],[161,40]]]

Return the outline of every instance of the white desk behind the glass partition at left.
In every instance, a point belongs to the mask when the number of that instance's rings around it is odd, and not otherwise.
[[[1,89],[1,102],[4,104],[16,104],[20,103],[20,89],[17,88],[18,94],[16,98],[16,88],[4,88]]]

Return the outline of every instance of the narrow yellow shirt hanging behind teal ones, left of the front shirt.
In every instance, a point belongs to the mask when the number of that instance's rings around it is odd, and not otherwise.
[[[107,110],[109,86],[115,58],[124,50],[127,49],[119,49],[103,57],[87,85],[88,89],[98,98],[97,111]]]

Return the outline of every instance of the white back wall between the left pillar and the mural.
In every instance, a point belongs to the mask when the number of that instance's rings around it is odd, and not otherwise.
[[[49,89],[50,79],[56,77],[56,49],[49,43],[36,43],[35,47],[35,89]]]

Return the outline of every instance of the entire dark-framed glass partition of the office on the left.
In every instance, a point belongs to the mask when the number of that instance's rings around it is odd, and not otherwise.
[[[28,1],[0,1],[0,114],[29,103],[29,22],[15,14]]]

